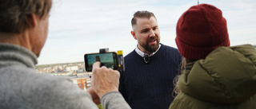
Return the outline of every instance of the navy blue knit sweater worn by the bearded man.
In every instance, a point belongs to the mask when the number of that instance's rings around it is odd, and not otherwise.
[[[135,50],[125,56],[119,91],[132,109],[167,109],[174,97],[173,80],[182,56],[178,49],[162,45],[146,64]]]

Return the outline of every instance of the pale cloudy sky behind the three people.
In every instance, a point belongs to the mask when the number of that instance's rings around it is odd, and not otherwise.
[[[222,10],[230,35],[230,45],[256,45],[255,0],[199,0]],[[130,20],[138,10],[153,12],[158,20],[161,41],[175,44],[178,18],[198,0],[53,0],[49,32],[38,64],[84,61],[84,54],[136,48],[130,34]]]

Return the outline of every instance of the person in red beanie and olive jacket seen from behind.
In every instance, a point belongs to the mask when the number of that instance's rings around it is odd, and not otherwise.
[[[256,108],[256,50],[230,47],[222,10],[191,6],[178,19],[176,33],[184,59],[170,109]]]

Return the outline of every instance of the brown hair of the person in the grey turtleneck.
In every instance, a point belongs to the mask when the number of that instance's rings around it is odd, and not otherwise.
[[[46,17],[52,0],[0,0],[0,33],[22,33],[30,28],[30,15]]]

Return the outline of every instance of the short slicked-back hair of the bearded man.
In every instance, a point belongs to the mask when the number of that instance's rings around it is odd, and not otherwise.
[[[149,18],[150,19],[151,17],[154,17],[154,14],[150,11],[147,11],[147,10],[137,11],[134,14],[134,18],[131,19],[131,25],[132,26],[136,25],[137,18]],[[157,19],[157,18],[155,18],[155,19]]]

